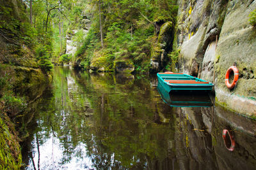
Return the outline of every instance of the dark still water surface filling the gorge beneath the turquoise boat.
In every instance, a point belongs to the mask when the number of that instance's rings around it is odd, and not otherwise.
[[[212,104],[171,107],[156,84],[55,67],[27,124],[27,169],[255,169],[255,121]]]

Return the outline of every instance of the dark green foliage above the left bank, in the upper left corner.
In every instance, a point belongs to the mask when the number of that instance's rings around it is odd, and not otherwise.
[[[54,3],[54,1],[48,1]],[[16,4],[17,3],[17,4]],[[33,1],[33,22],[32,25],[28,20],[26,6],[22,1],[1,1],[0,3],[0,36],[6,43],[3,57],[4,63],[15,66],[25,67],[42,67],[49,71],[52,57],[52,32],[44,31],[45,28],[45,1]],[[45,46],[45,59],[41,55],[40,60],[35,56],[36,48]],[[2,50],[2,49],[0,49]],[[39,64],[36,63],[40,62]],[[1,59],[0,59],[1,60]],[[50,66],[51,67],[51,66]]]

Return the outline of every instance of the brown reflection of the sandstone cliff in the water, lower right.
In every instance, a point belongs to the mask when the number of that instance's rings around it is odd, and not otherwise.
[[[175,113],[177,169],[253,169],[256,162],[254,120],[218,104],[211,108],[176,108]],[[225,146],[223,129],[234,136],[233,152]]]

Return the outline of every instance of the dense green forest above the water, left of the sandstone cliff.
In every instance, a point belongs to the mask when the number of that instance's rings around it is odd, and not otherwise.
[[[8,52],[13,53],[13,48],[17,50],[19,46],[19,53],[15,54],[27,55],[33,62],[22,62],[17,56],[1,58],[45,71],[52,68],[51,62],[70,61],[84,69],[104,67],[103,71],[114,71],[115,63],[123,61],[136,71],[148,73],[150,55],[161,52],[161,45],[166,46],[166,41],[157,37],[160,27],[170,22],[167,27],[173,28],[178,10],[177,2],[170,0],[38,0],[17,1],[17,5],[13,7],[11,1],[1,3],[1,35],[13,46]],[[68,40],[77,48],[73,53],[67,53]],[[166,55],[170,50],[168,46]]]

